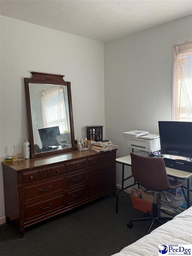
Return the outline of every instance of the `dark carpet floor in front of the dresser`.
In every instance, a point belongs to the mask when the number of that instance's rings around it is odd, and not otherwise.
[[[134,222],[143,217],[134,209],[130,195],[105,195],[76,209],[25,228],[24,237],[10,222],[0,225],[1,256],[110,256],[143,237],[150,221]],[[158,224],[154,228],[157,227]]]

